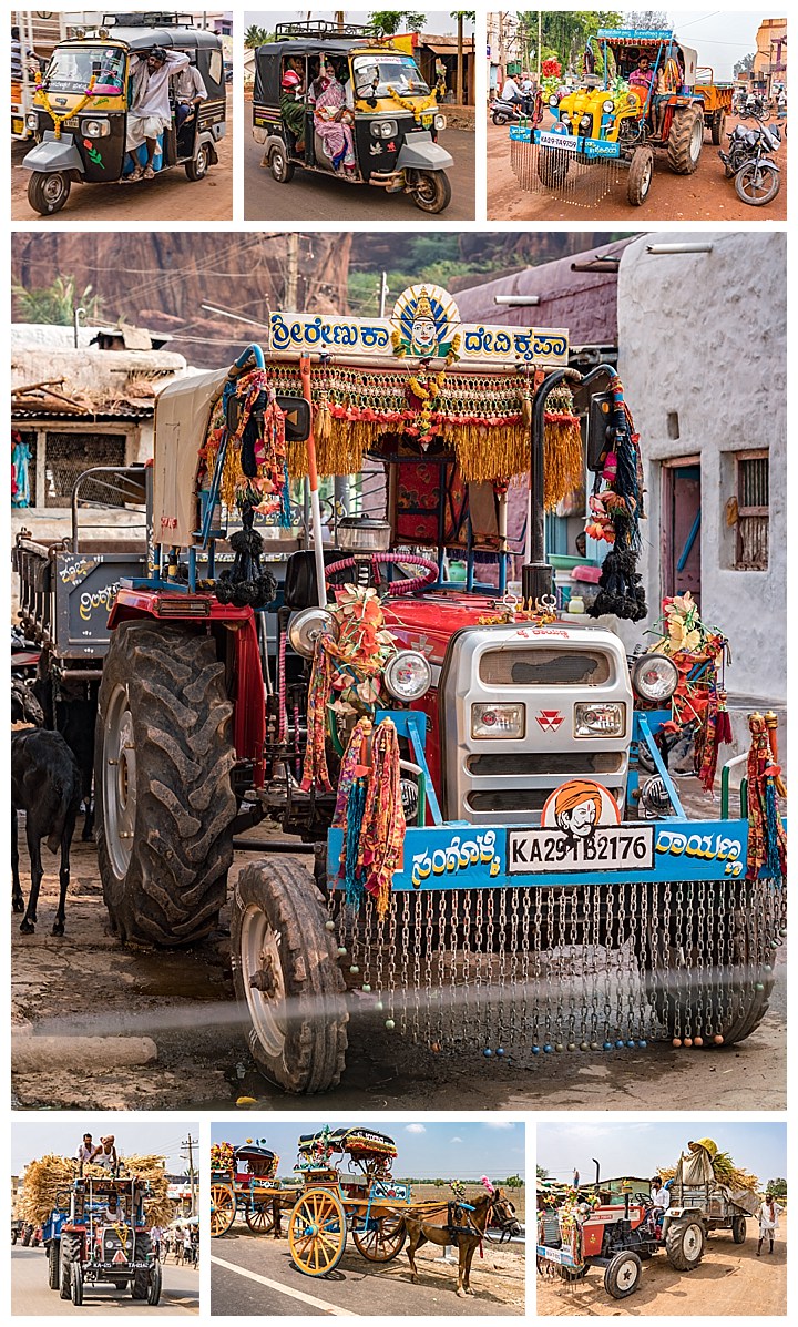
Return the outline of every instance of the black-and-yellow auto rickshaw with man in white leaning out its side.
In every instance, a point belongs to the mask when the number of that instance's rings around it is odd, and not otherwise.
[[[130,58],[162,46],[184,50],[196,64],[207,98],[180,126],[158,139],[155,171],[184,166],[188,179],[207,175],[217,161],[216,143],[227,129],[227,89],[221,37],[191,28],[180,15],[125,16],[125,25],[60,41],[37,85],[28,126],[36,138],[23,161],[30,171],[28,202],[41,216],[61,211],[72,184],[117,183],[131,174],[126,151],[127,114],[133,94]],[[155,25],[154,21],[156,20]],[[144,163],[146,149],[138,150]]]

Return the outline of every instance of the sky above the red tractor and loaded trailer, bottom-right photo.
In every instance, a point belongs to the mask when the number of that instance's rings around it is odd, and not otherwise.
[[[786,1176],[786,1125],[738,1120],[570,1120],[538,1124],[537,1164],[553,1180],[570,1182],[574,1166],[583,1184],[595,1178],[593,1157],[606,1180],[623,1174],[651,1177],[657,1166],[676,1165],[691,1139],[712,1139],[736,1165],[768,1180]]]

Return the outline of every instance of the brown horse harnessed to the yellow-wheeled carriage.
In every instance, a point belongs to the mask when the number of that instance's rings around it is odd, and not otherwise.
[[[501,1230],[501,1242],[521,1234],[513,1204],[501,1189],[481,1193],[472,1202],[461,1198],[449,1201],[432,1210],[404,1213],[404,1229],[408,1234],[407,1257],[414,1285],[419,1285],[415,1254],[423,1243],[455,1245],[457,1249],[457,1294],[473,1295],[471,1289],[471,1263],[475,1249],[485,1237],[488,1226]]]

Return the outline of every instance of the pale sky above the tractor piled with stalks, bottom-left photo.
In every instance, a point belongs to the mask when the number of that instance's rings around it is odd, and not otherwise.
[[[180,1120],[159,1123],[155,1120],[109,1120],[107,1116],[94,1119],[91,1115],[82,1115],[80,1120],[64,1123],[52,1115],[42,1115],[41,1121],[27,1124],[13,1121],[11,1128],[11,1172],[21,1174],[29,1161],[54,1152],[56,1156],[73,1157],[78,1149],[84,1133],[90,1132],[94,1143],[99,1143],[101,1136],[113,1133],[117,1140],[117,1152],[121,1156],[164,1156],[170,1174],[187,1173],[187,1161],[180,1158],[183,1139],[191,1137],[196,1141],[198,1125],[180,1123]],[[195,1148],[194,1158],[198,1162],[199,1152]]]

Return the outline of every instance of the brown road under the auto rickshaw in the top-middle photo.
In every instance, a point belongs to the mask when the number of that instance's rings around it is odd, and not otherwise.
[[[248,107],[247,107],[248,109]],[[407,194],[386,194],[367,184],[347,184],[298,169],[290,184],[276,184],[261,166],[262,147],[244,126],[244,218],[248,222],[408,222],[414,227],[465,222],[475,216],[475,138],[464,129],[447,129],[439,142],[455,158],[447,173],[452,202],[429,216]]]

